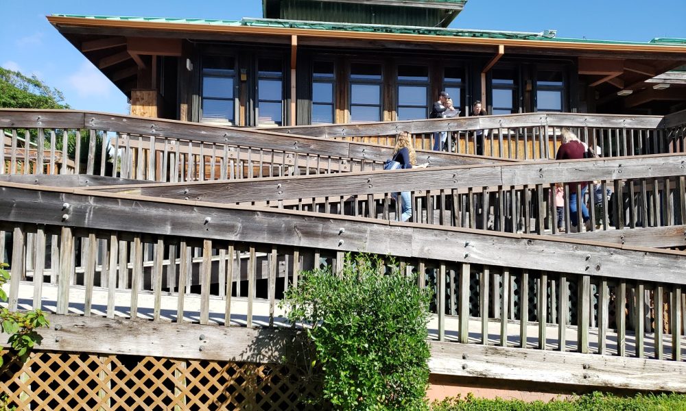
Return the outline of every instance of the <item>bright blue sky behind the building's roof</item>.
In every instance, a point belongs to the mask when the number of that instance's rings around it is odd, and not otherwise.
[[[35,74],[73,108],[126,113],[126,97],[45,19],[53,13],[110,16],[260,17],[261,0],[0,0],[0,65]],[[686,0],[469,0],[450,27],[541,32],[558,37],[648,41],[686,38]]]

